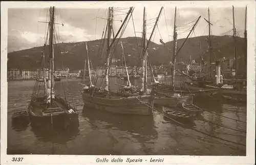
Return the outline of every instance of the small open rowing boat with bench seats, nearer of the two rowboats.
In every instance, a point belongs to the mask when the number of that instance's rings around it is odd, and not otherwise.
[[[163,114],[168,118],[177,120],[177,121],[193,121],[195,120],[196,115],[188,114],[182,111],[179,111],[177,107],[162,107]],[[170,119],[169,119],[170,120]]]

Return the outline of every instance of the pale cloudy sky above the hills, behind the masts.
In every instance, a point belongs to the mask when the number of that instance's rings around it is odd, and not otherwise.
[[[80,42],[100,39],[106,21],[108,8],[56,8],[55,25],[59,42]],[[123,9],[123,10],[121,10]],[[125,18],[125,12],[129,8],[114,7],[114,31],[117,32],[121,20]],[[8,52],[42,46],[46,35],[46,23],[38,21],[47,20],[49,8],[9,8],[8,9]],[[232,35],[233,18],[232,6],[225,8],[209,8],[212,35]],[[160,7],[150,6],[146,8],[147,38],[153,30],[154,18],[160,12]],[[156,29],[156,35],[152,41],[160,44],[173,40],[175,8],[165,6]],[[49,12],[48,12],[49,13]],[[196,26],[195,33],[191,37],[208,35],[208,8],[177,8],[178,39],[186,38],[191,25],[201,15]],[[245,6],[234,8],[235,25],[237,32],[243,37],[245,26]],[[49,20],[49,18],[48,18]],[[135,7],[133,19],[131,18],[122,37],[141,37],[143,20],[143,7]],[[134,22],[134,26],[133,26]],[[190,23],[192,22],[192,23]],[[190,28],[190,29],[189,29]]]

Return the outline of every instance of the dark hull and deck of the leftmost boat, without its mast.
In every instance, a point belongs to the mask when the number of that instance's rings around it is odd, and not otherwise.
[[[78,120],[78,112],[65,103],[62,98],[55,97],[47,107],[45,97],[31,100],[28,114],[31,124],[35,126],[52,125],[54,128],[66,128]]]

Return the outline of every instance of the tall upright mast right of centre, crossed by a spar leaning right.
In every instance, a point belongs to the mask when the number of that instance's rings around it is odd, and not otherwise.
[[[176,7],[174,15],[174,46],[173,46],[173,69],[172,69],[172,90],[175,91],[175,64],[176,64],[176,48],[177,48],[177,32],[176,32]]]

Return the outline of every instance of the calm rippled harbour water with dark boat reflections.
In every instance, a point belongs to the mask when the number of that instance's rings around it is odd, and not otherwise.
[[[13,112],[27,110],[35,81],[9,81],[7,154],[246,155],[246,105],[195,102],[205,110],[203,118],[218,125],[195,120],[183,127],[158,113],[143,117],[85,109],[80,81],[55,82],[56,93],[63,94],[65,89],[67,99],[80,114],[79,127],[53,134],[49,133],[51,130],[35,129],[29,123],[12,124]],[[114,79],[111,84],[115,84]]]

